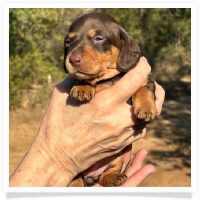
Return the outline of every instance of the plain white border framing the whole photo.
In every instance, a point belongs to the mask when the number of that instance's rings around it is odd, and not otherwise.
[[[77,7],[78,5],[78,7]],[[2,24],[1,24],[1,108],[3,111],[3,116],[1,119],[2,127],[2,185],[3,190],[6,193],[191,193],[197,191],[197,178],[198,178],[198,99],[196,94],[198,94],[198,27],[197,17],[198,17],[198,1],[114,1],[114,0],[101,0],[96,1],[4,1],[2,3],[1,13],[2,13]],[[63,188],[63,187],[9,187],[9,8],[191,8],[191,70],[192,70],[192,90],[191,90],[191,187],[121,187],[121,188]]]

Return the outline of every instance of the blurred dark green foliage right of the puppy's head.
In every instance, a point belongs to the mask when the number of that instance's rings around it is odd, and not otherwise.
[[[112,15],[140,45],[154,66],[156,60],[191,62],[191,10],[189,8],[102,9]]]

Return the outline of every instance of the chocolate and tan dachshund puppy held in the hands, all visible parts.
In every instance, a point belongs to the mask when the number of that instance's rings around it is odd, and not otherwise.
[[[141,57],[133,38],[112,17],[100,13],[76,19],[64,43],[65,70],[77,80],[70,96],[79,101],[90,100],[96,92],[110,87],[135,67]],[[145,122],[157,117],[152,74],[132,96],[132,105],[134,114]],[[98,177],[78,175],[70,186],[88,186],[95,181],[102,186],[118,186],[126,180],[126,175],[121,173],[122,164],[119,155]]]

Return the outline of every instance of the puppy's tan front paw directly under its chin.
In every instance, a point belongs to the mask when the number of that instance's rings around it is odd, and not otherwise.
[[[70,91],[70,96],[79,101],[91,100],[95,95],[95,88],[90,85],[76,85]]]

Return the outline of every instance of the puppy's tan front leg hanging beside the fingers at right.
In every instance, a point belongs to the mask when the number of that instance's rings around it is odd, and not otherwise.
[[[155,106],[155,84],[152,74],[149,74],[143,86],[132,96],[133,110],[136,117],[151,121],[158,116]]]

